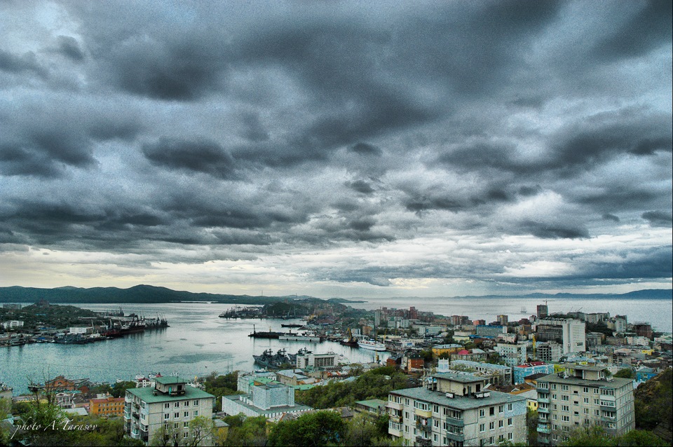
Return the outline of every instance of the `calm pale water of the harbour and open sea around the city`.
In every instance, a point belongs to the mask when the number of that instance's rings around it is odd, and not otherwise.
[[[535,298],[386,298],[366,303],[352,303],[353,308],[373,310],[382,305],[388,308],[431,310],[440,315],[467,315],[470,319],[494,321],[496,315],[506,314],[518,320],[535,312],[542,301]],[[92,310],[108,310],[111,304],[76,304]],[[672,331],[673,305],[667,300],[597,300],[563,299],[548,301],[550,312],[610,312],[627,315],[630,322],[651,322],[659,331]],[[69,378],[114,383],[118,378],[130,380],[137,374],[161,372],[178,373],[186,378],[203,376],[211,371],[226,373],[252,371],[252,355],[267,348],[297,352],[308,348],[313,352],[333,351],[343,354],[351,362],[371,362],[375,353],[341,346],[339,343],[304,343],[252,338],[253,325],[258,331],[286,330],[283,321],[271,319],[223,319],[218,315],[231,308],[230,304],[168,303],[125,304],[128,314],[135,312],[145,317],[166,317],[170,327],[147,331],[115,340],[88,345],[60,345],[36,343],[0,348],[0,380],[14,388],[15,394],[27,392],[30,380],[43,383],[45,378],[59,374]],[[526,308],[526,314],[522,314]],[[287,321],[285,321],[287,322]],[[291,322],[294,322],[291,320]],[[297,320],[299,322],[299,320]],[[387,358],[385,352],[380,359]]]

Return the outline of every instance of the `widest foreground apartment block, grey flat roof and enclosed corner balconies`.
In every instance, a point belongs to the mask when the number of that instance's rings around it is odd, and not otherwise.
[[[388,395],[388,433],[407,446],[526,442],[526,397],[489,390],[483,377],[437,373]]]

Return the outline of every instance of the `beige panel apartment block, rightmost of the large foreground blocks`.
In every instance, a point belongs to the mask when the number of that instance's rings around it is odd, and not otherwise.
[[[556,445],[590,425],[604,427],[610,436],[635,428],[633,380],[606,377],[605,371],[569,365],[538,379],[538,443]]]

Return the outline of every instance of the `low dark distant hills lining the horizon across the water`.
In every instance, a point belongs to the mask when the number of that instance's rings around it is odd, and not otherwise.
[[[626,294],[527,294],[520,296],[489,296],[490,298],[603,298],[603,299],[673,299],[672,289],[648,289],[631,291]],[[482,298],[465,296],[461,298]],[[39,289],[36,287],[0,287],[0,303],[35,303],[46,300],[50,303],[175,303],[175,302],[213,302],[231,304],[268,304],[279,301],[328,301],[330,303],[365,303],[359,298],[315,298],[307,295],[253,296],[206,294],[178,291],[166,287],[140,284],[128,289],[118,287],[56,287]]]

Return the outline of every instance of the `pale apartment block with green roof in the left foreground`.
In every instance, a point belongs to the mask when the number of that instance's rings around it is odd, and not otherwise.
[[[187,385],[179,377],[157,377],[155,382],[154,388],[126,390],[125,432],[147,444],[158,429],[165,427],[176,438],[170,444],[182,445],[189,438],[189,422],[193,418],[212,418],[215,396]]]

